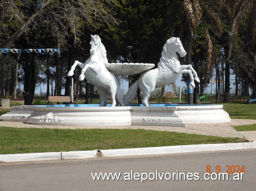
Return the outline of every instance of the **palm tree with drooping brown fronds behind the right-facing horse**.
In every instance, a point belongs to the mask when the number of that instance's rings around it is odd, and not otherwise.
[[[207,59],[206,66],[204,71],[205,82],[209,81],[209,74],[212,73],[215,65],[215,50],[213,48],[212,37],[209,33],[220,36],[222,31],[222,23],[219,15],[216,13],[216,10],[219,10],[220,7],[224,7],[222,0],[184,0],[183,6],[186,15],[186,45],[187,45],[187,64],[191,63],[191,36],[195,33],[200,22],[203,22],[207,27],[204,32],[204,36],[208,45],[207,50]],[[194,61],[194,69],[198,72],[198,64]],[[199,100],[199,86],[196,85],[194,88],[194,103],[200,103]]]

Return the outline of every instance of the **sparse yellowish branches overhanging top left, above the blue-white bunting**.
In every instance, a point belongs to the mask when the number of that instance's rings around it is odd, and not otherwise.
[[[10,0],[6,2],[12,4]],[[21,35],[28,36],[32,31],[41,33],[45,27],[54,30],[60,45],[65,45],[65,37],[68,35],[74,36],[75,44],[79,45],[84,25],[88,25],[89,28],[99,28],[102,24],[110,26],[117,23],[114,12],[109,8],[116,4],[115,0],[77,0],[61,3],[58,0],[42,0],[38,5],[29,3],[29,0],[21,1],[24,6],[34,6],[35,10],[38,7],[39,10],[36,10],[35,13],[31,13],[31,11],[21,13],[20,8],[16,8],[16,4],[13,3],[10,10],[4,11],[9,18],[19,18],[21,25],[15,33],[6,33],[5,37],[0,39],[3,41],[0,47],[11,47],[12,43],[17,41]],[[18,15],[19,13],[20,15]],[[27,15],[32,16],[27,17]],[[0,24],[0,29],[4,29],[4,27],[4,24]],[[5,28],[7,32],[8,27]]]

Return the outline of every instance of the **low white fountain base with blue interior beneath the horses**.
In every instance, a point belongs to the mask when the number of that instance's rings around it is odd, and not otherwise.
[[[98,107],[97,104],[12,106],[3,121],[62,126],[172,126],[230,122],[222,105],[151,104],[138,107]]]

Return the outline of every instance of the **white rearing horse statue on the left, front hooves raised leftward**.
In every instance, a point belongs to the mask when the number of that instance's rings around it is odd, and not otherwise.
[[[106,49],[98,35],[91,35],[91,39],[89,59],[87,59],[84,64],[76,60],[67,76],[74,75],[75,67],[77,65],[80,66],[82,70],[79,80],[82,81],[86,78],[89,83],[97,87],[100,96],[100,106],[106,106],[107,96],[109,94],[112,106],[116,105],[116,101],[122,106],[123,94],[120,88],[119,78],[109,72],[105,66],[105,63],[108,63]]]

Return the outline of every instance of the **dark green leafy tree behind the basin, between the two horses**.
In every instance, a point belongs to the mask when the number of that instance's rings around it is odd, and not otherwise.
[[[168,0],[119,0],[118,24],[101,32],[111,62],[128,62],[127,46],[133,46],[131,62],[153,63],[157,67],[165,41],[169,38]],[[140,74],[133,75],[135,82]],[[140,90],[137,90],[138,103]]]

